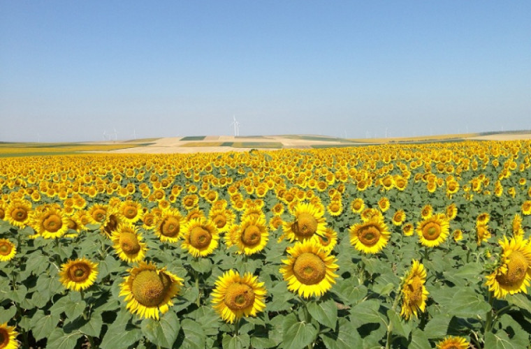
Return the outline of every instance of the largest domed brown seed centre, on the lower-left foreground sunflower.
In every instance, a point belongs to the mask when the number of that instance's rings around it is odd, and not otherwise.
[[[170,276],[157,274],[154,270],[143,270],[135,276],[131,293],[143,306],[157,306],[163,302],[170,286]]]

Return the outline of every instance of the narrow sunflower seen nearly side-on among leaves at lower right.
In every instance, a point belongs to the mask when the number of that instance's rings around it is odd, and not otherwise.
[[[418,260],[413,260],[413,265],[406,276],[402,278],[402,289],[400,295],[402,299],[402,309],[400,316],[409,320],[413,315],[418,317],[419,311],[424,311],[428,290],[425,288],[426,271]]]

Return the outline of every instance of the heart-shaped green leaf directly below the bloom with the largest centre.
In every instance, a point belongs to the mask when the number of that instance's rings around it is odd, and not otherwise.
[[[163,348],[171,348],[179,334],[179,319],[173,311],[168,311],[159,321],[143,320],[141,329],[151,343]]]

